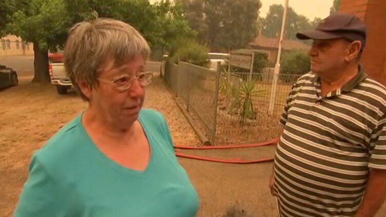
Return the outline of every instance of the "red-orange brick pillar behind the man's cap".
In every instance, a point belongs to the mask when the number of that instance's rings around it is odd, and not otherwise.
[[[386,85],[386,1],[342,0],[340,11],[361,17],[368,28],[362,62],[366,73]]]

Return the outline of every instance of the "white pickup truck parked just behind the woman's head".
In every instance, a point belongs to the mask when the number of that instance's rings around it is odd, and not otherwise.
[[[60,95],[67,94],[68,90],[73,88],[71,80],[67,77],[64,63],[50,63],[49,72],[51,84],[56,86],[56,91]]]

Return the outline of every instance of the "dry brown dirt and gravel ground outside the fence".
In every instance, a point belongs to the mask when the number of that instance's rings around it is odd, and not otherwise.
[[[60,96],[54,86],[32,84],[30,79],[21,79],[19,86],[0,91],[0,216],[12,215],[28,175],[31,154],[86,107],[75,94]],[[199,145],[160,78],[147,89],[145,107],[166,116],[177,144]],[[272,157],[274,149],[184,152],[253,159]],[[180,158],[180,162],[200,194],[198,216],[222,216],[231,206],[244,209],[250,216],[277,215],[275,200],[267,188],[272,162],[234,165],[187,158]]]

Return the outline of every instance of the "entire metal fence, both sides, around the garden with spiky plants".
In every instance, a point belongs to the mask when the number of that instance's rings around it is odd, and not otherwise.
[[[164,79],[196,125],[214,144],[272,139],[291,86],[300,75],[279,75],[273,115],[268,115],[273,71],[214,71],[185,62],[166,63]]]

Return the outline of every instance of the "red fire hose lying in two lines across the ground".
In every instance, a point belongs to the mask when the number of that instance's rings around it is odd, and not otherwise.
[[[222,146],[203,146],[203,147],[189,147],[189,146],[176,145],[175,148],[176,149],[195,149],[195,150],[249,148],[249,147],[267,146],[269,144],[275,144],[278,141],[279,141],[279,138],[275,138],[275,139],[272,139],[269,141],[258,142],[258,143],[229,144],[229,145],[222,145]],[[254,164],[254,163],[258,163],[258,162],[271,161],[274,159],[272,157],[271,158],[253,159],[253,160],[246,160],[246,159],[242,159],[242,158],[218,158],[218,157],[186,154],[186,153],[181,153],[180,151],[177,151],[177,150],[176,150],[176,155],[179,157],[185,157],[185,158],[190,158],[190,159],[205,160],[205,161],[212,161],[212,162],[224,162],[224,163],[228,163],[228,164]]]

